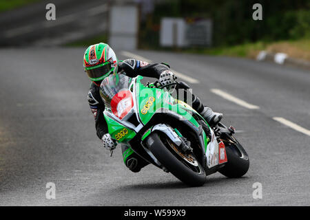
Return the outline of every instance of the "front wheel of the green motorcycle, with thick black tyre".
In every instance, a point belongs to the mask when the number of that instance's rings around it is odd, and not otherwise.
[[[162,133],[152,133],[147,137],[149,151],[172,175],[189,186],[203,186],[206,175],[203,166],[193,153],[183,154],[177,146]]]

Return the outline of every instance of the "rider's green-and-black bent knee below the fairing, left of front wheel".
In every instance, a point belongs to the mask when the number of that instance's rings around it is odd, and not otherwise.
[[[141,168],[149,164],[149,162],[147,162],[145,159],[134,153],[130,146],[122,144],[121,148],[123,154],[123,161],[127,168],[129,168],[132,172],[138,173]]]

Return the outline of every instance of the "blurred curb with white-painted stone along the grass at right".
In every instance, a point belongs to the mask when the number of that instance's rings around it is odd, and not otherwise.
[[[310,69],[310,62],[304,61],[296,58],[291,58],[285,53],[271,53],[265,50],[262,50],[258,53],[256,61],[267,61],[277,63],[279,65],[287,65],[293,67],[301,67],[304,69]]]

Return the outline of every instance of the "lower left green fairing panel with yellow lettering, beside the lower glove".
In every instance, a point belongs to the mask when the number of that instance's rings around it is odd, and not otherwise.
[[[120,133],[121,131],[123,131],[123,129],[127,129],[128,133],[125,136],[121,137],[121,139],[119,139],[118,142],[126,143],[132,140],[134,136],[136,136],[136,133],[132,131],[131,129],[128,129],[127,127],[114,121],[112,118],[105,115],[105,113],[103,113],[103,115],[105,116],[105,120],[107,121],[107,129],[113,139],[116,139],[116,135]]]

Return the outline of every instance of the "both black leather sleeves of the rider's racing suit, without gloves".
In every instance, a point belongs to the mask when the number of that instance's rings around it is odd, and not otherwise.
[[[129,77],[136,77],[138,75],[152,78],[159,78],[161,73],[169,69],[168,65],[163,63],[146,63],[143,61],[137,61],[135,59],[127,59],[118,63],[118,72],[122,72]],[[101,139],[105,133],[107,133],[107,122],[103,116],[105,110],[105,104],[99,94],[99,86],[95,83],[90,85],[88,91],[88,103],[90,104],[90,110],[94,115],[96,124],[96,133]]]

